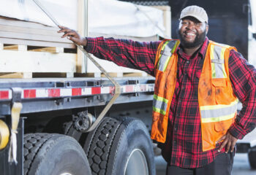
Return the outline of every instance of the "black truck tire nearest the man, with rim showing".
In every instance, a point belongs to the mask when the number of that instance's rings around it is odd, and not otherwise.
[[[89,133],[83,149],[91,174],[156,174],[152,142],[141,120],[105,117]]]

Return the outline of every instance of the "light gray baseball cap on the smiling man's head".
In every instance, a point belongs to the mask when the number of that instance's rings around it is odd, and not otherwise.
[[[202,7],[198,7],[194,5],[194,6],[188,6],[182,9],[179,20],[188,16],[197,18],[197,20],[199,20],[202,23],[203,22],[208,23],[208,15],[206,13],[206,10],[203,9]]]

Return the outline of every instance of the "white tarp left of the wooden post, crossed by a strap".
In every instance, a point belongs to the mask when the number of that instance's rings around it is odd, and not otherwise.
[[[28,20],[47,26],[55,24],[32,0],[0,0],[0,15],[18,20]],[[63,26],[77,28],[78,3],[75,0],[39,0]]]

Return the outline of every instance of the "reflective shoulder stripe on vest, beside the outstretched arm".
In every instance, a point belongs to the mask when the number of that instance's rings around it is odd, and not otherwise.
[[[167,41],[162,46],[159,62],[157,64],[157,69],[159,71],[165,71],[170,61],[170,57],[173,55],[173,52],[176,50],[177,46],[178,46],[178,41],[176,40]]]

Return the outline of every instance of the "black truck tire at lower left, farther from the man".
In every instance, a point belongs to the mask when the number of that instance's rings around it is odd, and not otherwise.
[[[91,174],[82,147],[69,136],[29,133],[23,148],[24,175]]]

